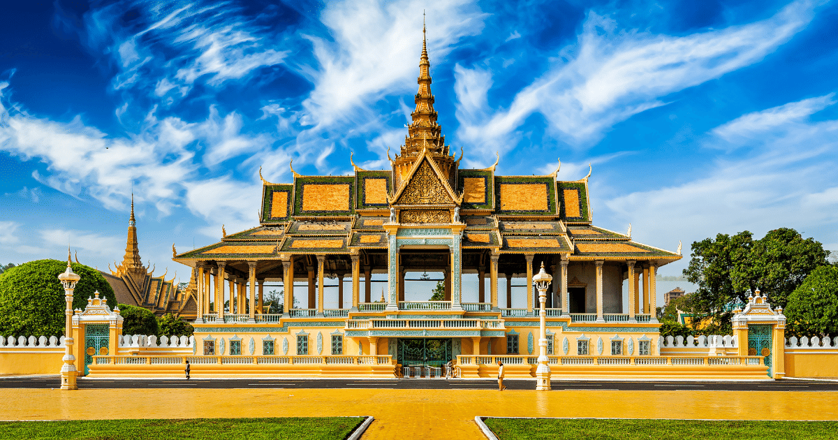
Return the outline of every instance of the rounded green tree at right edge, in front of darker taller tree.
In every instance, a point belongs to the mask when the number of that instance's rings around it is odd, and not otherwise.
[[[838,336],[838,267],[812,271],[789,296],[783,313],[789,335]]]

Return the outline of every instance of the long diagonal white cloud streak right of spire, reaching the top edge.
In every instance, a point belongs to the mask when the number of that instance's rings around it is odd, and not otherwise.
[[[762,21],[683,37],[618,30],[611,18],[589,12],[577,43],[556,53],[553,66],[508,108],[484,109],[493,114],[488,120],[468,117],[478,114],[473,109],[458,112],[458,136],[482,153],[507,151],[515,130],[538,112],[556,137],[589,146],[617,122],[664,105],[673,92],[762,60],[805,28],[815,7],[800,0]]]

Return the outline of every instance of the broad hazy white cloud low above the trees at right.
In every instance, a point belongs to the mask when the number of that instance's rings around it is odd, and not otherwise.
[[[838,120],[807,120],[834,105],[831,96],[754,111],[716,127],[707,134],[705,145],[753,148],[738,156],[720,156],[684,184],[607,200],[606,218],[618,224],[632,221],[634,236],[641,242],[671,250],[682,240],[685,256],[692,241],[717,233],[751,230],[761,236],[781,226],[835,242]],[[678,266],[685,264],[681,261]]]

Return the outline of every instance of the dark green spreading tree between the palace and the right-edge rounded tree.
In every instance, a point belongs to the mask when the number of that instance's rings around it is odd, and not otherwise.
[[[784,307],[806,275],[827,264],[829,254],[820,242],[804,240],[789,228],[771,230],[756,241],[745,230],[694,242],[684,275],[698,285],[691,299],[696,322],[707,322],[708,333],[730,333],[733,305],[745,303],[757,289],[773,306]]]

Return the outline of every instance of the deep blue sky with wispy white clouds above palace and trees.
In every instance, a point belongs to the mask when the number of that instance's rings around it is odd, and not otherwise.
[[[258,169],[385,168],[427,13],[466,167],[580,179],[594,223],[685,259],[793,227],[838,251],[838,7],[810,1],[12,2],[0,15],[0,261],[171,258],[257,225]]]

